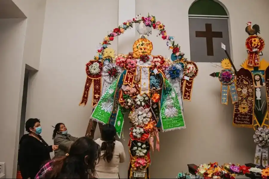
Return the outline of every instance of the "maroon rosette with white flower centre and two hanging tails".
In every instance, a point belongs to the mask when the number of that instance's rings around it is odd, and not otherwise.
[[[89,90],[93,83],[93,94],[92,94],[92,106],[96,106],[101,97],[102,88],[102,71],[103,63],[98,60],[91,60],[86,64],[87,79],[85,82],[84,92],[80,105],[86,105],[89,96]]]

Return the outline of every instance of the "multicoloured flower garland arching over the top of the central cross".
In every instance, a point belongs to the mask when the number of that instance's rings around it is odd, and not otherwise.
[[[127,29],[132,28],[135,23],[143,22],[147,27],[152,27],[153,29],[159,30],[158,36],[161,36],[163,40],[166,40],[166,45],[169,47],[169,49],[172,49],[172,54],[177,59],[184,59],[187,60],[187,58],[184,58],[184,53],[180,51],[180,46],[178,44],[175,44],[174,37],[167,35],[165,30],[165,25],[163,25],[160,21],[157,21],[155,16],[147,16],[147,17],[141,17],[141,15],[137,15],[132,20],[127,20],[123,22],[122,25],[120,25],[117,28],[114,28],[113,31],[110,31],[107,36],[103,39],[103,42],[100,43],[100,45],[97,47],[97,55],[94,56],[95,60],[104,60],[103,59],[103,52],[107,48],[108,45],[111,45],[111,41],[114,40],[115,37],[120,36],[123,34]],[[121,60],[123,60],[121,58]],[[120,63],[122,64],[122,63]],[[119,64],[119,66],[120,66]],[[118,64],[116,64],[118,65]]]

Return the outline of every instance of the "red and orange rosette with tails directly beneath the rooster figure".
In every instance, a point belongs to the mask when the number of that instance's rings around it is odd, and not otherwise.
[[[264,40],[257,35],[251,35],[246,40],[246,48],[248,50],[247,65],[251,67],[260,66],[259,53],[264,49]]]

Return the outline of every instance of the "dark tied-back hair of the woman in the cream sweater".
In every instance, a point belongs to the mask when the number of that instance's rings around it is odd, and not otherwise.
[[[116,135],[116,129],[112,124],[106,124],[102,126],[102,132],[101,137],[104,141],[101,145],[101,150],[104,150],[105,153],[103,155],[104,160],[106,160],[108,163],[111,162],[113,158],[113,152],[115,148],[115,135]]]

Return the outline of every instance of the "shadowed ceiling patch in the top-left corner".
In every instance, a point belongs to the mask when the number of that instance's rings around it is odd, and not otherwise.
[[[0,0],[0,18],[26,18],[12,0]]]

